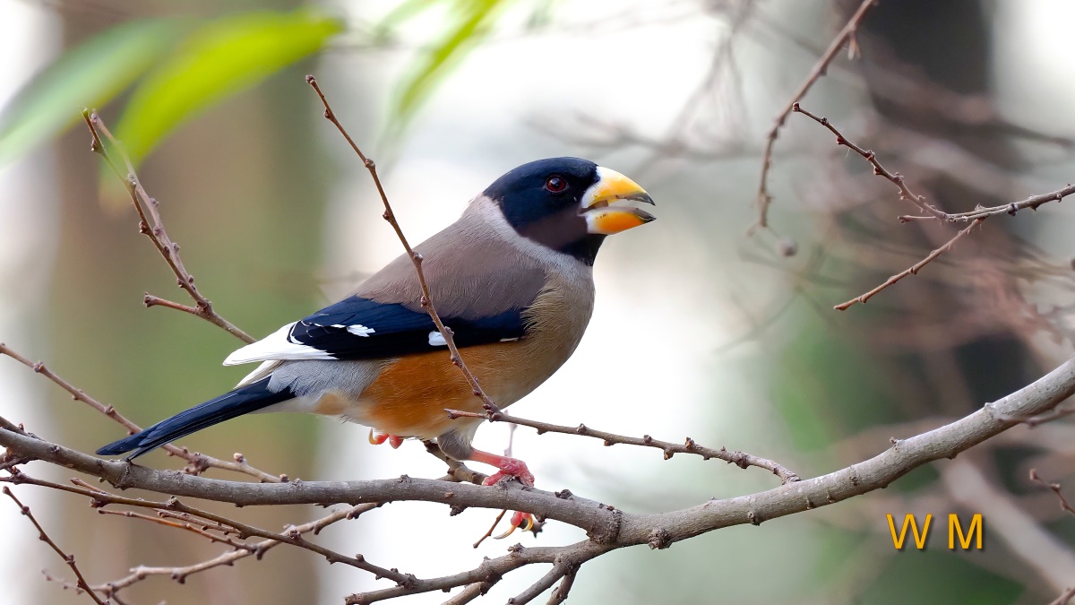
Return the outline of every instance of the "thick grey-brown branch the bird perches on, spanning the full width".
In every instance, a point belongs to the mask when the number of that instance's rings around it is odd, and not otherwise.
[[[752,495],[713,500],[691,508],[654,515],[624,512],[570,494],[561,493],[562,497],[558,497],[557,494],[521,488],[517,483],[498,487],[446,484],[444,481],[406,476],[373,481],[288,484],[221,481],[101,460],[5,428],[0,428],[0,446],[18,456],[73,468],[124,489],[139,488],[243,506],[425,501],[481,508],[512,508],[583,527],[590,533],[594,545],[618,548],[647,544],[651,548],[665,548],[675,541],[721,527],[759,524],[884,488],[914,468],[935,460],[955,458],[959,452],[1019,424],[1004,418],[1046,412],[1073,393],[1075,358],[970,416],[907,439],[893,440],[883,453],[847,468]]]

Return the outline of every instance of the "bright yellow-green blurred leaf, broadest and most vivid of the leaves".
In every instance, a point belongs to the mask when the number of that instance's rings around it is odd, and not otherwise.
[[[316,53],[342,30],[339,19],[309,10],[216,19],[135,88],[116,137],[138,164],[184,121]]]

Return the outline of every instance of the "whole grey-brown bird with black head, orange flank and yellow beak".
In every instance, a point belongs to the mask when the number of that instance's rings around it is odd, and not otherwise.
[[[532,392],[575,351],[593,311],[598,250],[607,236],[654,221],[640,203],[654,200],[615,170],[576,157],[539,159],[497,179],[415,247],[438,314],[499,407]],[[486,484],[508,477],[534,484],[522,461],[471,446],[482,418],[445,411],[481,412],[483,402],[446,352],[406,254],[224,365],[257,362],[228,393],[97,453],[131,461],[246,413],[298,411],[369,426],[375,445],[435,440],[454,460],[496,467]],[[516,512],[511,523],[528,527],[532,519]]]

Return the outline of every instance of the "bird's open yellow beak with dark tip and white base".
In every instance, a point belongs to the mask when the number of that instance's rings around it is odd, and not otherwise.
[[[579,210],[586,219],[589,233],[611,236],[656,220],[654,215],[637,208],[610,206],[620,200],[654,206],[654,199],[637,183],[615,170],[599,166],[598,182],[583,194]]]

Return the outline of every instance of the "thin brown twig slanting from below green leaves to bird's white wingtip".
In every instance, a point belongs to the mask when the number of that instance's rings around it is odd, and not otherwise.
[[[110,132],[104,126],[101,117],[97,115],[97,113],[91,113],[87,109],[82,110],[82,117],[86,121],[86,126],[89,127],[89,131],[94,137],[90,142],[90,150],[100,155],[116,177],[123,181],[124,188],[127,189],[127,194],[131,198],[131,203],[134,205],[134,209],[138,211],[139,233],[145,234],[145,236],[149,238],[149,241],[157,247],[157,252],[163,256],[164,262],[168,263],[169,268],[172,269],[172,273],[175,275],[175,281],[178,286],[185,290],[187,294],[190,295],[190,298],[195,300],[195,307],[174,305],[172,308],[197,315],[213,325],[219,326],[247,344],[254,342],[255,339],[250,335],[246,334],[217,313],[213,309],[213,302],[211,302],[207,298],[205,298],[205,296],[202,295],[201,292],[198,291],[198,286],[195,285],[194,276],[187,271],[186,267],[183,265],[183,258],[180,257],[180,244],[172,241],[172,239],[168,236],[168,231],[164,230],[164,223],[160,217],[157,200],[149,197],[149,194],[147,194],[145,188],[142,187],[142,182],[139,181],[138,174],[134,172],[134,166],[131,164],[130,158],[127,156],[127,153],[123,151],[119,142],[112,136],[112,132]],[[123,160],[124,167],[127,170],[126,174],[124,174],[124,172],[119,169],[115,160],[112,158],[112,155],[101,142],[101,135],[104,135],[104,138],[108,139],[116,150],[119,158]],[[148,295],[146,296],[148,297]],[[148,304],[146,306],[152,307],[152,305]]]

